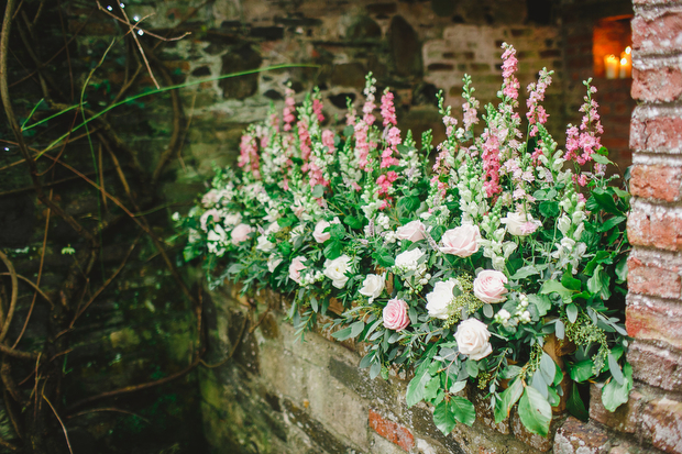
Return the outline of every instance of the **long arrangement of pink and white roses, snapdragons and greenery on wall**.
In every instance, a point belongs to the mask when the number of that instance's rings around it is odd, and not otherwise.
[[[377,122],[371,74],[362,115],[349,101],[341,134],[321,126],[318,91],[299,107],[287,91],[282,121],[273,110],[251,125],[239,169],[217,169],[176,220],[210,285],[293,295],[300,333],[343,304],[333,336],[366,343],[360,366],[373,378],[414,367],[407,403],[431,403],[444,433],[473,423],[472,384],[497,422],[518,403],[524,425],[547,435],[552,407],[585,416],[576,384],[605,381],[612,411],[627,401],[627,333],[608,302],[626,291],[629,195],[606,176],[591,81],[560,150],[541,104],[552,73],[528,86],[524,135],[516,51],[503,48],[498,106],[480,115],[465,77],[461,123],[439,96],[436,147],[430,132],[419,147],[403,134],[388,89]]]

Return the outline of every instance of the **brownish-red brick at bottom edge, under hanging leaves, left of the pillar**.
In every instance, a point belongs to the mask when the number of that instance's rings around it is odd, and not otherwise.
[[[609,450],[604,430],[573,417],[565,420],[554,436],[554,454],[606,454]]]

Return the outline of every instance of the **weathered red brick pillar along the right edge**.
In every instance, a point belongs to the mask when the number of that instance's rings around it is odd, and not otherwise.
[[[634,5],[632,98],[639,106],[630,128],[626,324],[637,384],[619,422],[591,416],[682,453],[682,1]]]

